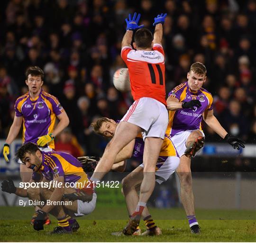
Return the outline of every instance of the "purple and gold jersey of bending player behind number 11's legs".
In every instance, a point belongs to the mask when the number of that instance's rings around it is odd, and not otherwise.
[[[132,158],[135,158],[138,161],[143,162],[144,145],[145,144],[144,144],[143,138],[140,135],[138,135],[135,138]],[[155,171],[160,169],[160,167],[164,164],[164,162],[169,156],[179,157],[173,142],[168,138],[167,135],[165,135],[165,139],[162,144],[160,154],[155,165]]]

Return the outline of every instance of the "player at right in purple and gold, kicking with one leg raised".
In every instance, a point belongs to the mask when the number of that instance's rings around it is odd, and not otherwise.
[[[229,135],[213,115],[212,96],[202,88],[206,81],[206,68],[202,63],[193,63],[187,74],[188,81],[175,87],[167,99],[170,135],[181,158],[177,173],[181,182],[181,200],[192,233],[200,233],[195,216],[192,192],[191,157],[203,147],[204,133],[201,121],[204,119],[220,137],[235,149],[244,148],[244,141]]]

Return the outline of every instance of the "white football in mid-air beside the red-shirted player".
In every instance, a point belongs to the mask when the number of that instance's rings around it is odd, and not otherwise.
[[[113,83],[120,92],[128,92],[131,90],[128,68],[118,69],[113,76]]]

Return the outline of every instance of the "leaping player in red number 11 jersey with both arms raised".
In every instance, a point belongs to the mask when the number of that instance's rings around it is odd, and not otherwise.
[[[154,37],[143,26],[138,26],[140,14],[129,15],[127,31],[122,40],[121,57],[128,66],[133,105],[121,119],[115,135],[107,145],[90,182],[80,194],[93,193],[93,185],[102,180],[115,162],[117,154],[139,133],[145,138],[143,155],[144,177],[140,187],[139,202],[132,213],[124,234],[136,231],[144,207],[155,188],[155,165],[165,137],[168,112],[165,100],[165,53],[161,45],[166,14],[155,18]],[[138,30],[137,30],[138,29]],[[135,31],[133,50],[131,47]]]

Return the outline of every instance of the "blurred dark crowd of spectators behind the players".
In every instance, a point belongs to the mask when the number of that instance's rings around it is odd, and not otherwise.
[[[45,72],[43,89],[70,119],[56,142],[70,144],[74,135],[81,148],[73,153],[101,155],[107,141],[90,124],[101,116],[120,119],[133,102],[113,87],[112,76],[125,67],[125,18],[137,11],[152,32],[154,17],[167,13],[166,92],[186,81],[193,62],[204,63],[215,116],[230,134],[256,142],[256,0],[1,0],[0,6],[1,139],[15,100],[27,92],[24,72],[37,65]],[[207,141],[220,141],[203,129]]]

